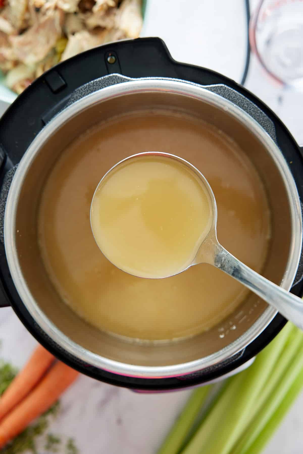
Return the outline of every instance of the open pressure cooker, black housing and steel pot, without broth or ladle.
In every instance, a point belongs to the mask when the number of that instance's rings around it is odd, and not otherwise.
[[[272,242],[263,275],[298,296],[303,295],[303,158],[262,101],[221,74],[175,61],[159,38],[109,43],[58,64],[0,119],[0,306],[10,305],[37,341],[83,374],[153,392],[233,375],[286,320],[251,294],[224,322],[198,336],[130,342],[98,331],[60,300],[37,242],[45,179],[60,153],[87,128],[142,108],[186,110],[245,151],[271,208]]]

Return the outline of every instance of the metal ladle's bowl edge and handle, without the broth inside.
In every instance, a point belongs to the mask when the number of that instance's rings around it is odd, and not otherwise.
[[[212,188],[210,187],[204,175],[191,163],[189,163],[185,159],[179,158],[178,156],[174,156],[169,153],[147,152],[139,153],[133,156],[129,156],[129,158],[123,159],[122,161],[117,163],[113,168],[111,168],[109,172],[111,172],[119,164],[124,163],[128,159],[146,155],[164,156],[167,158],[177,160],[183,165],[189,167],[194,171],[194,173],[198,175],[201,185],[203,185],[204,188],[207,189],[207,192],[209,194],[212,207],[213,222],[211,224],[208,234],[205,236],[204,241],[202,241],[198,249],[198,252],[194,257],[193,262],[191,262],[190,265],[184,268],[184,270],[182,271],[185,271],[190,266],[198,265],[199,263],[209,263],[210,265],[219,268],[229,276],[232,276],[234,279],[241,282],[241,284],[246,286],[249,290],[253,291],[256,295],[260,296],[264,301],[266,301],[268,304],[273,306],[277,311],[279,311],[284,317],[292,321],[294,325],[298,326],[298,328],[303,330],[303,301],[301,300],[301,298],[289,293],[288,291],[269,281],[265,277],[261,276],[256,271],[253,271],[251,268],[244,265],[244,263],[240,262],[223,246],[221,246],[217,238],[218,212],[214,192],[212,191]],[[104,175],[104,177],[107,176],[109,172],[107,172]],[[94,192],[94,195],[97,192],[99,186],[102,184],[104,177],[100,180],[96,188],[96,191]],[[107,258],[110,260],[110,257]],[[114,262],[112,263],[115,266],[117,266]]]

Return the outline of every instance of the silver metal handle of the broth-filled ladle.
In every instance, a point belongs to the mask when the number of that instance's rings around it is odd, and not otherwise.
[[[303,300],[253,271],[218,244],[214,266],[229,274],[268,302],[285,318],[303,330]]]

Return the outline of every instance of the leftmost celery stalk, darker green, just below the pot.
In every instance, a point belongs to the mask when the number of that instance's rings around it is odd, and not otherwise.
[[[177,454],[179,452],[212,387],[213,385],[203,386],[191,394],[158,454]]]

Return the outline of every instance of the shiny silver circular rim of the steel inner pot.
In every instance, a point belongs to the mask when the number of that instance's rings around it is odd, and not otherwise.
[[[258,337],[277,314],[275,309],[268,306],[258,320],[255,321],[255,323],[253,323],[253,325],[250,326],[250,328],[236,341],[211,355],[200,358],[199,360],[169,366],[140,366],[110,360],[104,356],[92,353],[91,351],[84,349],[81,345],[71,341],[69,337],[65,336],[65,334],[45,316],[32,296],[26,284],[18,259],[15,241],[15,220],[20,191],[24,179],[35,157],[39,154],[42,145],[51,138],[52,133],[54,133],[57,129],[64,127],[64,125],[79,114],[79,112],[83,114],[84,110],[88,109],[93,104],[99,104],[100,102],[108,99],[124,95],[137,94],[139,92],[144,93],[159,91],[199,99],[206,103],[213,104],[219,109],[224,109],[225,111],[228,109],[228,114],[232,115],[240,123],[243,123],[244,126],[258,138],[273,158],[281,178],[283,179],[283,183],[288,194],[288,202],[291,212],[291,243],[286,270],[281,282],[281,286],[286,290],[289,290],[292,286],[293,279],[298,268],[302,247],[302,215],[300,200],[293,176],[288,169],[288,165],[283,157],[283,154],[280,153],[277,144],[274,143],[273,139],[270,138],[268,133],[265,132],[260,124],[231,101],[222,98],[218,94],[215,94],[202,86],[192,85],[186,83],[186,81],[182,82],[169,79],[140,79],[100,89],[85,96],[79,101],[76,101],[74,104],[71,104],[65,110],[57,114],[49,123],[45,125],[45,127],[30,144],[18,165],[10,186],[5,207],[4,221],[5,253],[10,274],[21,301],[23,301],[23,304],[29,311],[30,315],[34,318],[35,322],[41,327],[41,329],[45,331],[45,333],[50,336],[53,341],[60,345],[61,348],[65,349],[76,358],[83,360],[85,363],[116,374],[126,376],[129,375],[133,377],[160,378],[184,375],[213,366],[214,364],[218,364],[224,360],[228,360]],[[297,232],[299,232],[299,234]]]

